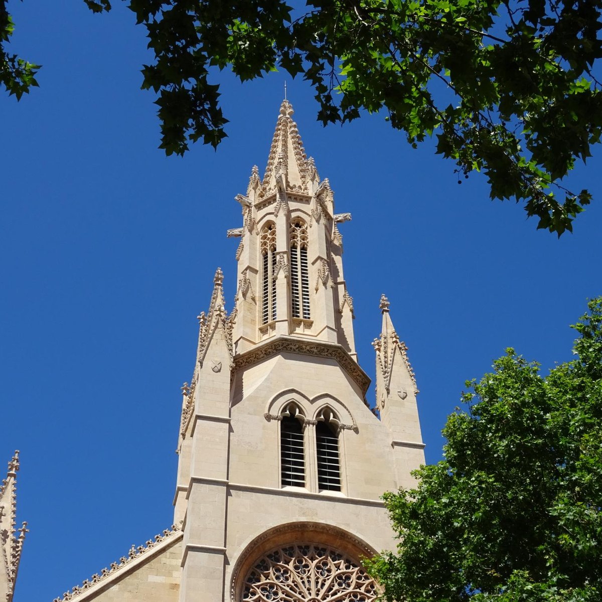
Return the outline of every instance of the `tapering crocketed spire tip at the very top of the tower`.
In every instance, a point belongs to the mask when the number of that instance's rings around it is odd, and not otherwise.
[[[282,101],[260,196],[274,190],[278,182],[282,182],[287,190],[308,190],[309,163],[299,129],[293,121],[293,112],[293,105],[287,100]],[[313,169],[315,171],[315,166]]]

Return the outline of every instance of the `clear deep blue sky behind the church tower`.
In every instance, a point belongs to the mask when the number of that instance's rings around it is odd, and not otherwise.
[[[18,518],[31,529],[16,602],[61,595],[172,520],[179,388],[217,266],[232,308],[237,193],[263,173],[285,76],[223,87],[229,137],[184,158],[157,149],[151,58],[119,2],[11,2],[14,50],[43,64],[40,88],[0,96],[0,460],[19,448]],[[288,98],[308,155],[330,179],[362,367],[381,293],[409,346],[427,461],[464,381],[513,346],[544,371],[571,358],[574,323],[602,293],[600,157],[569,185],[594,204],[560,240],[523,209],[458,185],[426,143],[412,151],[383,116],[324,129],[301,81]],[[598,155],[600,155],[598,153]],[[368,400],[373,402],[373,389]]]

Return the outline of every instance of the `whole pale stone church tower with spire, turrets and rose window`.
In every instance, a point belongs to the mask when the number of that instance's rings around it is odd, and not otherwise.
[[[424,463],[418,393],[382,297],[380,419],[365,400],[334,194],[282,103],[264,177],[236,197],[237,292],[217,268],[182,387],[172,529],[55,602],[376,599],[361,558],[394,549],[380,500]],[[127,594],[127,595],[126,595]]]

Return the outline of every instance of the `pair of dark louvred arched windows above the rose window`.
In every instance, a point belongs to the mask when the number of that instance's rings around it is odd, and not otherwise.
[[[315,424],[315,461],[318,490],[341,491],[339,460],[339,422],[330,408],[324,408],[317,420],[306,420],[296,403],[281,412],[280,459],[282,486],[305,487],[305,436],[308,424]],[[310,439],[311,440],[311,439]],[[311,453],[311,452],[310,452]]]

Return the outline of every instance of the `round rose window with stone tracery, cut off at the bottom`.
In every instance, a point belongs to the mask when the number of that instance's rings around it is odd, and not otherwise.
[[[354,560],[333,548],[276,548],[255,562],[243,585],[254,602],[373,602],[377,588]]]

